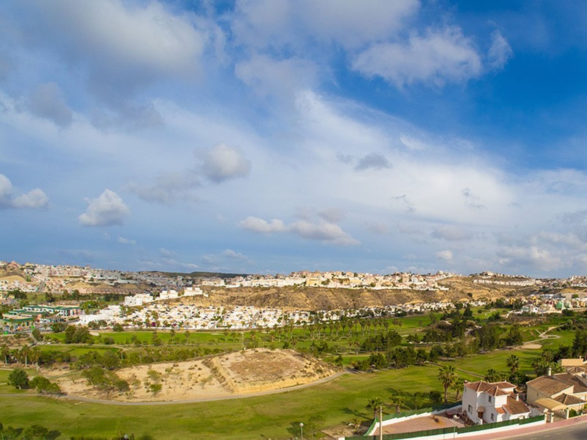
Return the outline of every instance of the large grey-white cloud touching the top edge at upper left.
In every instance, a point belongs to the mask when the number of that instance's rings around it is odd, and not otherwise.
[[[29,38],[89,66],[90,89],[108,100],[157,77],[193,75],[208,38],[187,14],[175,15],[158,1],[38,0],[28,6]]]

